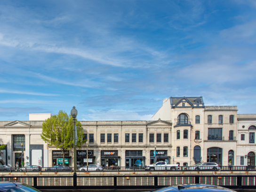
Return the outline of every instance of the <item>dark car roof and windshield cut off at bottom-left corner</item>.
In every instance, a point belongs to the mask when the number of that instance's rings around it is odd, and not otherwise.
[[[26,184],[10,181],[0,182],[0,192],[41,192]]]

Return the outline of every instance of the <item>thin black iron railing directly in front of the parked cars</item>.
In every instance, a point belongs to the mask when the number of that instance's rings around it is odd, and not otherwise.
[[[162,166],[162,167],[78,167],[77,172],[91,172],[91,171],[253,171],[256,166]],[[0,172],[73,172],[72,167],[39,167],[39,168],[6,168]]]

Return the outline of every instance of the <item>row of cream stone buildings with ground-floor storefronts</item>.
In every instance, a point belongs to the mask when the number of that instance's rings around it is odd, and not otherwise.
[[[169,97],[151,121],[81,121],[88,144],[88,164],[143,167],[155,161],[190,166],[198,162],[220,165],[255,165],[256,114],[237,114],[237,106],[205,106],[202,97]],[[63,154],[41,137],[43,119],[0,121],[3,160],[52,167]],[[21,143],[24,155],[21,155]],[[154,149],[157,155],[154,155]],[[87,146],[77,148],[77,164],[87,164]],[[73,150],[64,162],[73,166]]]

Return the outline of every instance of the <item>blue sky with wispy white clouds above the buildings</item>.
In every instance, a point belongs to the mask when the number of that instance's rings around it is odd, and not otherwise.
[[[256,0],[1,0],[0,120],[150,120],[169,96],[256,113]]]

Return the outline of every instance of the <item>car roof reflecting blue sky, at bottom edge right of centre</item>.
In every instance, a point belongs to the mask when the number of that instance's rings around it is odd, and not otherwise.
[[[153,190],[151,192],[235,192],[231,189],[216,185],[205,185],[205,184],[183,184],[173,185],[169,187],[163,187],[160,189]]]

